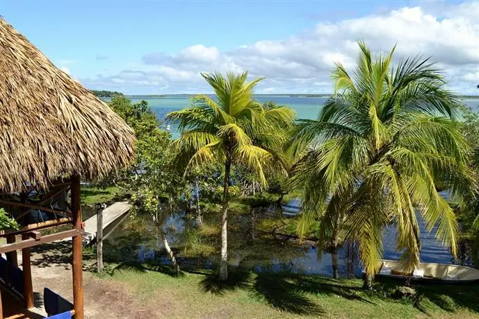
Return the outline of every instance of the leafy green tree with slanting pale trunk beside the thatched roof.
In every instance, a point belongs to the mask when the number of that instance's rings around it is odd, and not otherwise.
[[[187,190],[186,181],[168,155],[170,133],[159,128],[161,123],[146,101],[132,104],[124,96],[115,96],[110,106],[133,128],[137,139],[136,161],[112,178],[132,193],[133,216],[140,213],[152,218],[156,233],[178,273],[179,266],[168,245],[163,224],[171,214],[168,207],[179,205],[178,200]]]

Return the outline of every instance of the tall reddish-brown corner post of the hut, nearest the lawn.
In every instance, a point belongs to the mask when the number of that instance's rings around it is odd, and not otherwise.
[[[72,217],[73,227],[81,231],[80,176],[72,176]],[[75,319],[83,319],[83,261],[81,234],[72,239],[73,307]]]

